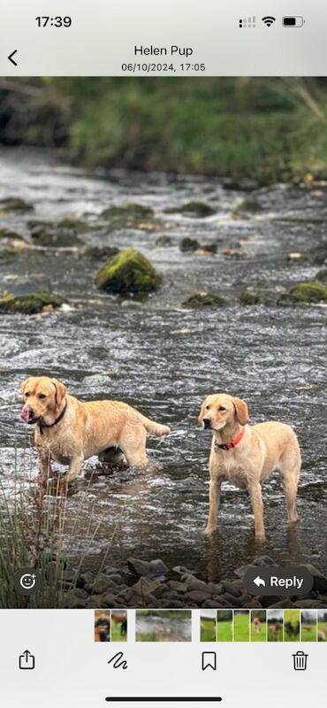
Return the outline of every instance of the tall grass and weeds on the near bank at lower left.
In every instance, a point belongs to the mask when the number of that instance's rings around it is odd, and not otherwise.
[[[67,488],[59,489],[58,477],[54,484],[49,483],[47,489],[43,489],[40,479],[35,479],[32,474],[34,462],[28,457],[28,452],[28,447],[27,450],[15,450],[10,493],[2,484],[3,470],[0,467],[0,609],[55,609],[65,606],[65,569],[72,570],[70,588],[74,589],[102,523],[94,513],[94,501],[90,500],[83,539],[86,550],[80,555],[76,566],[70,568],[65,539],[67,535],[78,535],[82,505],[86,512],[85,496],[81,495],[74,512],[68,513]],[[18,455],[25,460],[24,480],[19,478]],[[113,538],[114,535],[111,543]],[[110,555],[111,543],[103,555],[99,573],[102,573]],[[22,596],[15,590],[15,573],[25,566],[35,568],[39,573],[40,590],[35,595]]]

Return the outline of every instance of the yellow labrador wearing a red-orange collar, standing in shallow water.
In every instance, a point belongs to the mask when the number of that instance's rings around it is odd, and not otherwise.
[[[300,447],[292,427],[271,420],[247,425],[245,401],[225,393],[208,396],[199,422],[212,430],[209,457],[209,519],[205,533],[217,528],[220,489],[228,480],[247,489],[255,514],[255,536],[264,540],[262,481],[278,469],[286,497],[289,523],[299,519],[296,495],[300,476]]]

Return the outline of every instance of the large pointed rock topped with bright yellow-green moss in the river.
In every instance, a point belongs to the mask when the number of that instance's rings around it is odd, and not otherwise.
[[[100,268],[95,285],[110,293],[148,293],[159,288],[161,276],[138,250],[125,249]]]

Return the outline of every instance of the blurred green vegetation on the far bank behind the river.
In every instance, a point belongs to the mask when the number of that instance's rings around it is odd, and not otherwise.
[[[0,80],[0,142],[88,167],[274,181],[327,176],[327,80]]]

